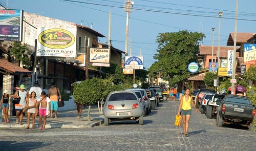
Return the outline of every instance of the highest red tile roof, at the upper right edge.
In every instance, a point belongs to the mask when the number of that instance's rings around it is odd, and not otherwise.
[[[238,43],[246,43],[249,39],[251,39],[256,33],[237,33],[237,45]],[[234,33],[231,32],[228,36],[227,46],[234,45]]]

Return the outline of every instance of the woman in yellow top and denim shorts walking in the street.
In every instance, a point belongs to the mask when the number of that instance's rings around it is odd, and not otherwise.
[[[187,130],[188,130],[188,123],[189,123],[189,119],[191,117],[191,105],[193,105],[196,113],[197,108],[196,105],[194,103],[194,101],[192,101],[192,97],[190,96],[190,89],[186,88],[185,89],[185,94],[181,97],[180,99],[180,105],[179,105],[179,110],[177,115],[182,117],[182,123],[183,123],[183,131],[184,131],[184,135],[187,136]]]

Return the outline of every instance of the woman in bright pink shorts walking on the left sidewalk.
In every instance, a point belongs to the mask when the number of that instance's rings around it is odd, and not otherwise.
[[[46,92],[41,92],[40,97],[40,105],[39,105],[39,119],[40,119],[40,127],[39,130],[46,130],[46,117],[50,113],[50,98],[46,96]],[[42,123],[42,116],[44,116],[44,124]]]

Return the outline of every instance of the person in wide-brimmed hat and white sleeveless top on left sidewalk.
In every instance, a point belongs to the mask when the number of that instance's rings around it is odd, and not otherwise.
[[[16,123],[22,125],[23,119],[23,109],[28,102],[28,92],[25,91],[26,87],[24,84],[20,84],[19,90],[16,91],[13,95],[14,98],[20,98],[19,103],[15,104],[15,111],[16,111]]]

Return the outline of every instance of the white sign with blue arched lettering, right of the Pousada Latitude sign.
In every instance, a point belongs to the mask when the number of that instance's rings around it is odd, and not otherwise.
[[[143,56],[125,56],[125,68],[143,69]]]

